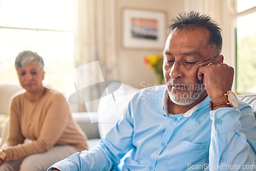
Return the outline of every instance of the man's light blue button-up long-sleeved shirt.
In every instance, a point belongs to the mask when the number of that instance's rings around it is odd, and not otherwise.
[[[52,167],[118,170],[129,152],[122,170],[256,169],[256,121],[248,104],[211,111],[206,97],[185,114],[172,115],[165,92],[165,85],[140,90],[96,147]]]

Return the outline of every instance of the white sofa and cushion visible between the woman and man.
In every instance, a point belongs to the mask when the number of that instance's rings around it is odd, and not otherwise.
[[[102,93],[98,102],[97,112],[72,113],[73,119],[78,123],[84,133],[87,134],[89,148],[97,145],[100,139],[105,137],[115,123],[122,117],[125,106],[139,90],[128,84],[121,83],[121,86],[116,86],[117,84],[117,82],[113,82],[108,86],[109,90],[118,87],[113,93],[116,99],[115,102],[113,102],[112,94],[106,96]],[[116,110],[117,108],[118,111]],[[91,122],[95,120],[97,122]]]

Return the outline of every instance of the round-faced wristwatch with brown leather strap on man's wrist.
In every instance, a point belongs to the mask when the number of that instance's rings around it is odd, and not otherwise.
[[[234,108],[238,108],[239,106],[237,96],[231,91],[227,91],[227,93],[224,94],[223,96],[209,101],[209,107],[211,110],[214,110],[216,106],[221,104],[227,104],[230,107],[234,107]]]

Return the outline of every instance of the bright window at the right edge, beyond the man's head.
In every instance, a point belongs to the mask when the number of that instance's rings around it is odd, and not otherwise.
[[[256,1],[237,0],[238,93],[256,93]]]

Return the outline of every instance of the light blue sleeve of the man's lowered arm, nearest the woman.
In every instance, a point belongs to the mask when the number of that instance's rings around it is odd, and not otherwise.
[[[67,170],[113,170],[120,159],[132,148],[133,121],[129,110],[124,117],[89,151],[75,153],[72,156],[52,165],[48,170],[58,168]],[[115,170],[115,169],[114,169]]]

